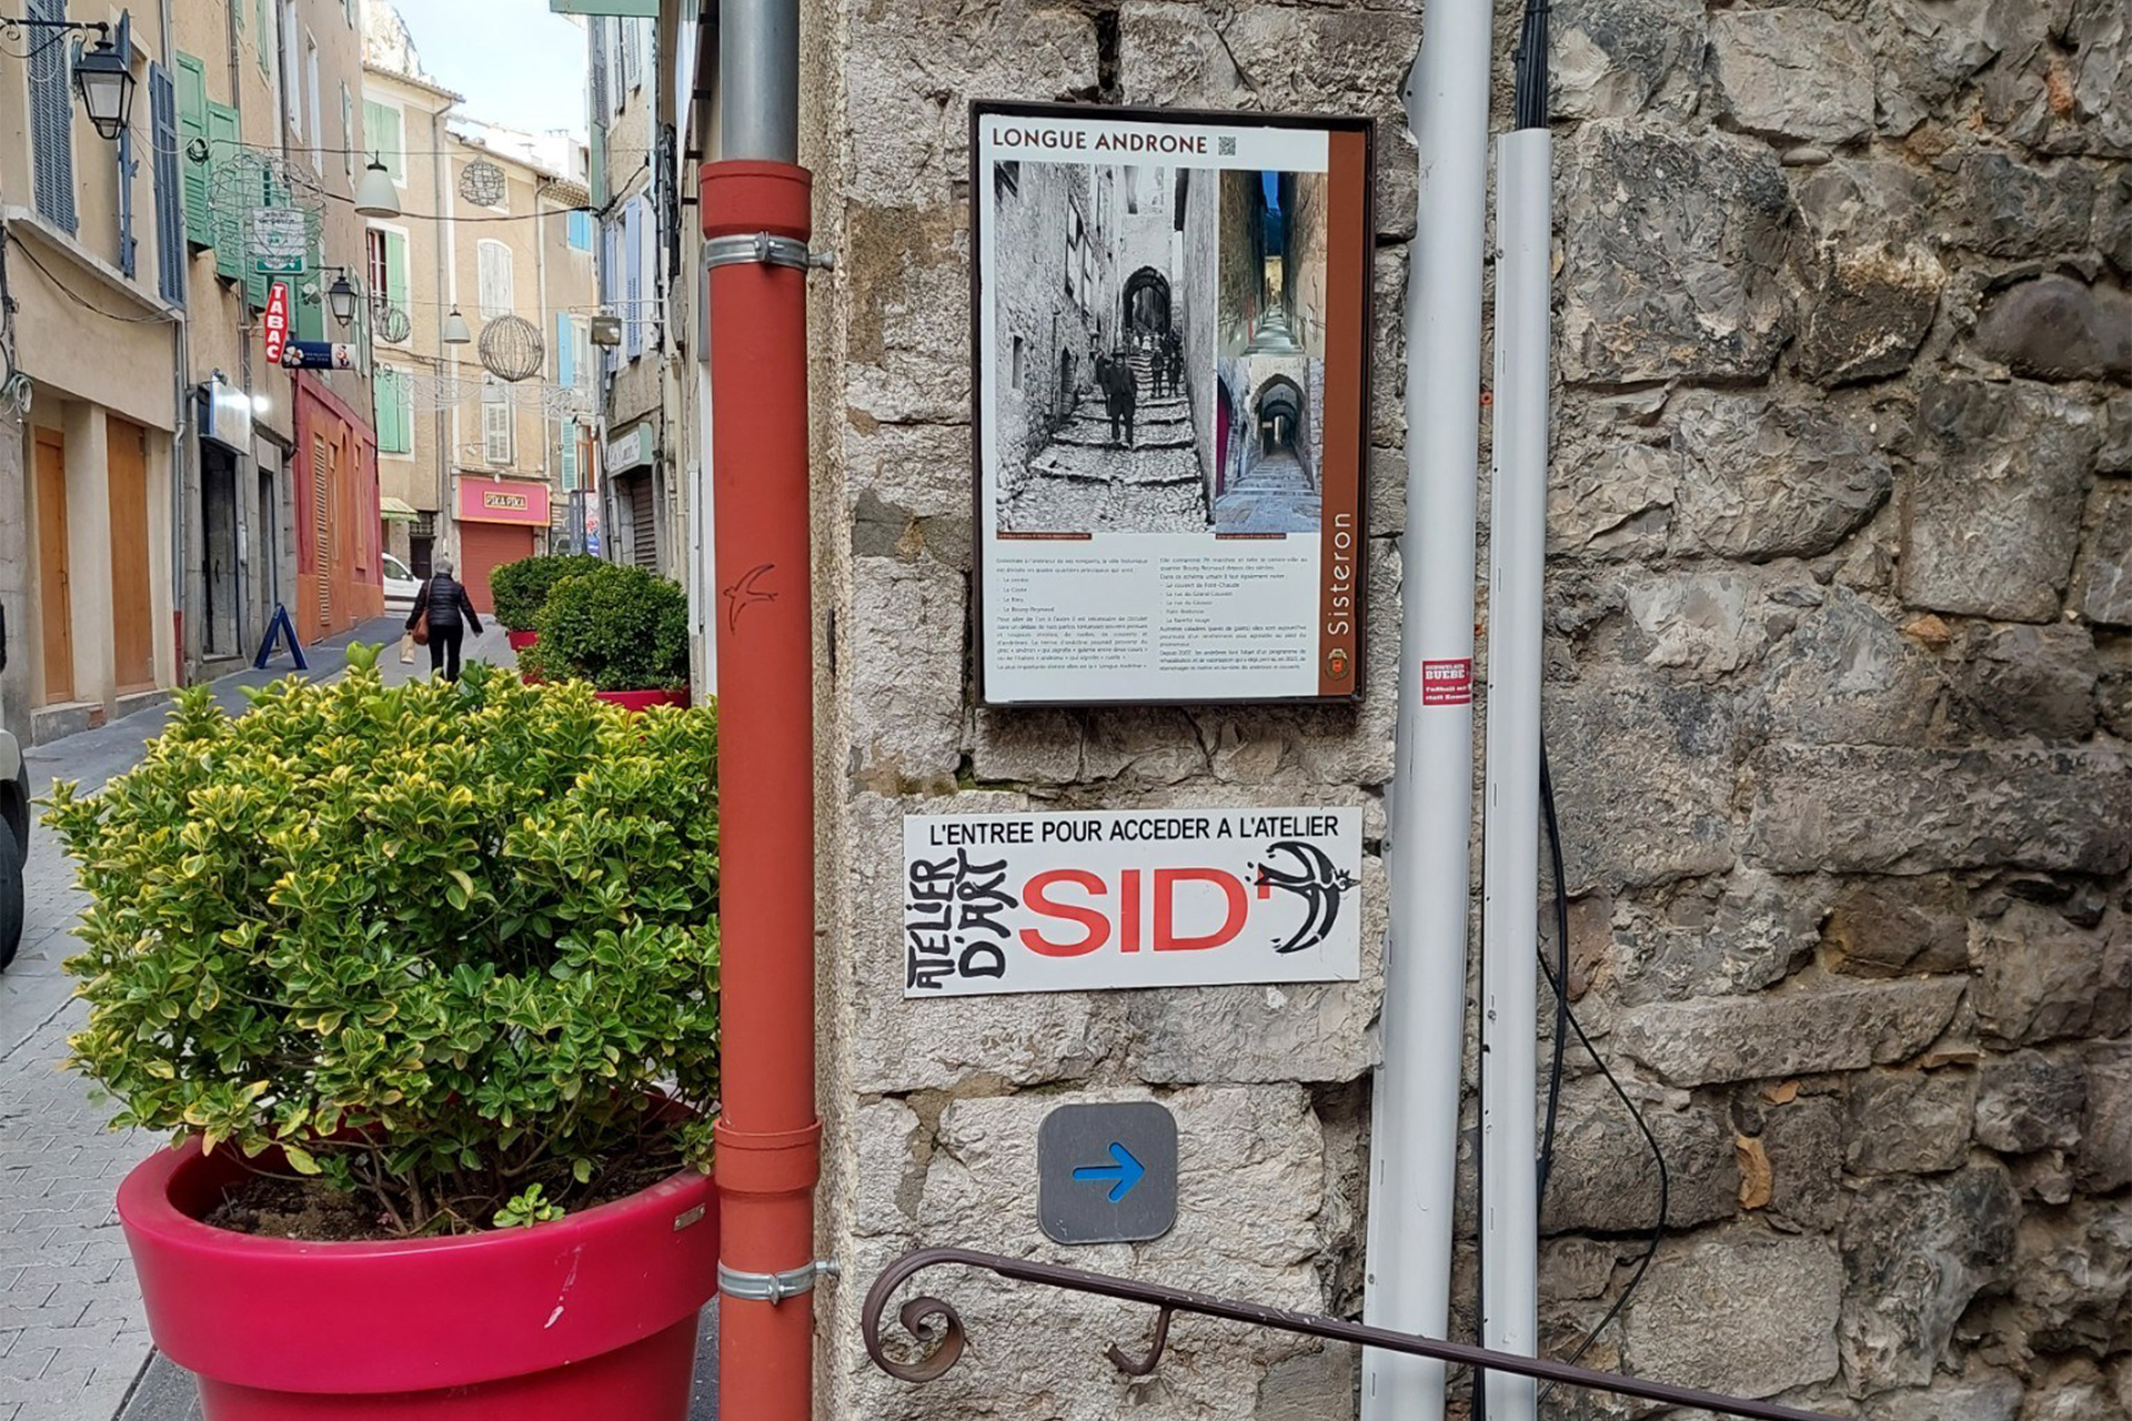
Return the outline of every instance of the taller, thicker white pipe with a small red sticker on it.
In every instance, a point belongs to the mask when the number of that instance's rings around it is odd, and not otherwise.
[[[1390,793],[1392,931],[1384,1065],[1371,1108],[1369,1272],[1375,1327],[1450,1325],[1467,859],[1473,829],[1473,518],[1480,281],[1488,196],[1488,0],[1426,0],[1407,77],[1420,151],[1407,277],[1407,522],[1401,537],[1399,758]],[[1439,688],[1424,695],[1424,671]],[[1452,671],[1445,680],[1441,673]],[[1443,1363],[1362,1353],[1364,1421],[1441,1421]]]

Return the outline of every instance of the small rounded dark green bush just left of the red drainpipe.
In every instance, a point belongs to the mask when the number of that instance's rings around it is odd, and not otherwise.
[[[597,690],[676,690],[689,684],[689,594],[640,567],[601,562],[548,592],[539,654],[527,671],[593,682]]]

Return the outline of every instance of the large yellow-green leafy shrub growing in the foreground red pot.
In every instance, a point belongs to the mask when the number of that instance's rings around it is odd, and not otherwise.
[[[53,786],[92,899],[70,1065],[113,1125],[281,1146],[401,1234],[708,1167],[712,709],[375,663],[239,718],[194,686],[139,767]]]

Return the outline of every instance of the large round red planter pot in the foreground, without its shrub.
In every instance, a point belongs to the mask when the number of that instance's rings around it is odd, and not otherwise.
[[[200,1223],[243,1174],[198,1142],[119,1187],[156,1346],[207,1421],[682,1421],[718,1206],[691,1172],[531,1229],[307,1244]]]

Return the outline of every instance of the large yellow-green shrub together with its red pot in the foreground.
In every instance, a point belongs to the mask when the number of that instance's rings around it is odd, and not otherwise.
[[[473,665],[179,692],[47,822],[70,1065],[209,1421],[680,1421],[716,1287],[716,729]]]

